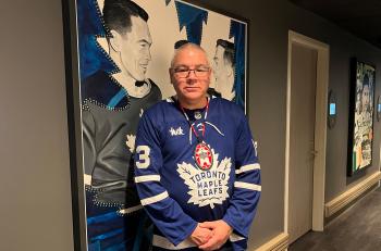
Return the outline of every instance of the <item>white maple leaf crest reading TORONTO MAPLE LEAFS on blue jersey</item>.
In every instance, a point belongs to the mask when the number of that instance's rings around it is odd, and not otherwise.
[[[229,198],[228,184],[232,161],[230,158],[225,158],[219,163],[219,154],[214,153],[213,149],[211,151],[213,165],[208,171],[202,171],[185,162],[177,164],[180,177],[189,188],[190,199],[188,203],[197,204],[199,208],[210,205],[213,209],[214,204],[222,204]]]

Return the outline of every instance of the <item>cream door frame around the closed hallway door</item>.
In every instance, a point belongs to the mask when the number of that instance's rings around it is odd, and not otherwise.
[[[318,52],[315,114],[314,192],[312,192],[312,230],[324,228],[324,188],[325,188],[325,150],[327,150],[327,100],[329,84],[330,47],[302,34],[288,30],[287,57],[287,112],[285,147],[285,187],[284,187],[284,231],[288,233],[288,192],[290,192],[290,128],[291,128],[291,62],[293,45],[302,45]]]

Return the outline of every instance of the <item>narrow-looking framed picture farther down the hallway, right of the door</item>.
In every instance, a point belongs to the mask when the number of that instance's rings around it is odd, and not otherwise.
[[[376,67],[353,59],[348,129],[349,176],[372,163],[374,86]]]

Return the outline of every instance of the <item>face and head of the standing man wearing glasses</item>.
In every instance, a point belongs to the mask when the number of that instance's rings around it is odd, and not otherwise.
[[[176,71],[190,71],[186,76],[180,76]],[[186,47],[181,49],[173,60],[170,70],[171,83],[180,100],[199,103],[207,96],[210,83],[210,67],[204,51],[198,48]]]

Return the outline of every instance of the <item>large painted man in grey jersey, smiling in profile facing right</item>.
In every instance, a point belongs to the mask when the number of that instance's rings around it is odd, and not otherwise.
[[[82,83],[89,250],[139,250],[134,239],[144,214],[136,212],[142,205],[133,181],[135,134],[161,92],[146,78],[152,42],[146,11],[130,0],[106,0],[102,13],[118,71],[98,71]]]

